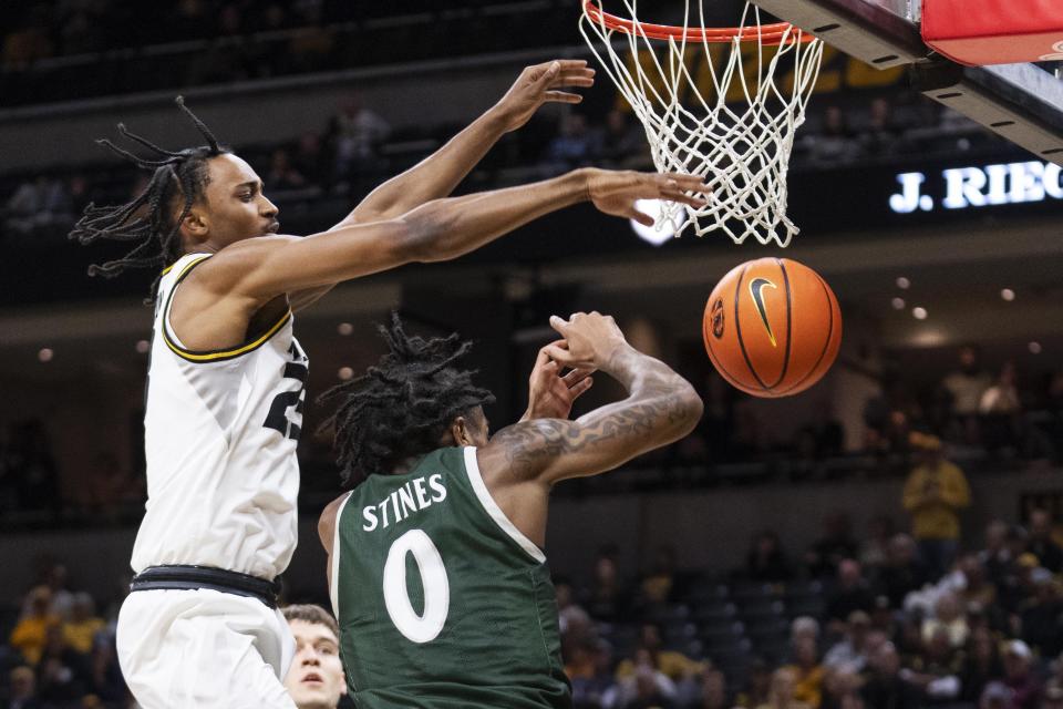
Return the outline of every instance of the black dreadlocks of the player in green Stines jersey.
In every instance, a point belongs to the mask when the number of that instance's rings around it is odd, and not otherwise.
[[[378,329],[389,352],[361,377],[318,397],[318,403],[340,400],[319,431],[336,427],[344,487],[364,476],[391,474],[406,458],[438,448],[456,417],[495,400],[486,389],[473,386],[475,371],[454,366],[473,347],[456,332],[430,340],[407,337],[398,312],[392,312],[390,327]]]

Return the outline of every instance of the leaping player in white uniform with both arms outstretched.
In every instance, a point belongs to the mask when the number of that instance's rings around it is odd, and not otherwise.
[[[275,608],[276,576],[296,545],[307,359],[292,312],[337,282],[471,251],[547,213],[590,201],[643,223],[636,199],[700,205],[689,175],[585,168],[509,189],[448,195],[486,151],[563,86],[589,86],[582,61],[529,66],[495,106],[437,153],[378,187],[340,224],[278,234],[277,207],[250,165],[178,100],[207,145],[155,154],[144,193],[90,205],[73,238],[136,243],[90,268],[114,276],[167,267],[156,281],[145,414],[148,503],[118,618],[118,658],[145,707],[293,707],[279,678],[292,641]]]

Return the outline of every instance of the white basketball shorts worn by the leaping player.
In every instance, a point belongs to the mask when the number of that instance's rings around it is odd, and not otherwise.
[[[296,709],[296,644],[279,610],[208,588],[137,590],[118,613],[118,664],[144,709]]]

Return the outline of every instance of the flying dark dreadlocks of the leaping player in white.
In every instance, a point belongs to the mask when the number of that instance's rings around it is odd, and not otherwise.
[[[120,259],[91,265],[90,276],[114,278],[126,268],[161,268],[180,258],[180,223],[188,216],[193,204],[203,198],[210,182],[207,161],[230,151],[220,145],[206,124],[185,105],[184,97],[177,96],[177,105],[192,119],[200,135],[206,138],[206,145],[186,147],[175,153],[131,133],[123,123],[118,123],[118,132],[153,151],[158,160],[145,160],[134,155],[107,138],[96,141],[137,167],[154,171],[154,174],[144,192],[132,202],[107,207],[97,207],[94,203],[90,203],[85,207],[81,219],[70,233],[71,239],[81,244],[92,244],[96,239],[140,242],[133,250]],[[178,196],[183,196],[185,203],[180,215],[177,219],[173,219],[171,205]],[[156,246],[157,250],[153,248]],[[155,298],[159,278],[152,284],[148,301]]]

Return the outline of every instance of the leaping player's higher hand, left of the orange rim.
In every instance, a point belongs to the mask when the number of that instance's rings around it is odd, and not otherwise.
[[[595,84],[595,70],[581,59],[559,59],[527,66],[492,111],[506,131],[516,131],[546,102],[579,103],[582,96],[565,86],[587,89]]]

